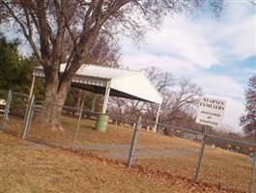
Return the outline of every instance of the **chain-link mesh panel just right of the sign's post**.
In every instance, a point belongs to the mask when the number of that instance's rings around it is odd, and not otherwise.
[[[200,179],[246,192],[252,170],[247,152],[249,145],[211,135],[207,137],[207,144]]]

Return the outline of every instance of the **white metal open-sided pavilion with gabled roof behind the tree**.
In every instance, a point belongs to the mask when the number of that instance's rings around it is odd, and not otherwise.
[[[64,71],[65,67],[66,64],[61,65],[60,73]],[[33,92],[36,76],[44,77],[43,67],[36,67],[33,71],[30,96]],[[71,86],[104,95],[102,114],[106,112],[109,96],[154,102],[159,105],[156,124],[158,122],[162,97],[143,72],[95,65],[82,65],[72,77]],[[156,126],[154,129],[156,131]]]

